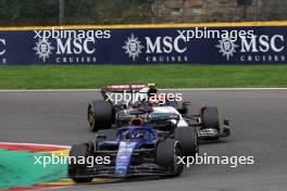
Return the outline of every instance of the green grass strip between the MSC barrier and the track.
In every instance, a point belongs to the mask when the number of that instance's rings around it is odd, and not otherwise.
[[[161,88],[287,87],[287,65],[0,67],[0,89],[85,89],[124,82],[157,82]]]

